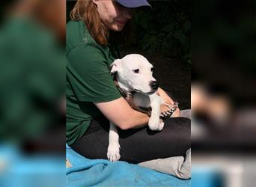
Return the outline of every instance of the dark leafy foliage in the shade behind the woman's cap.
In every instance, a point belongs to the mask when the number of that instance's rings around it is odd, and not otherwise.
[[[189,1],[150,1],[150,4],[152,10],[144,8],[135,11],[127,43],[191,64]]]

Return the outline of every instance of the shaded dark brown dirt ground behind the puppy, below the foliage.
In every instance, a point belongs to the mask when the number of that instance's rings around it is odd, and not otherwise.
[[[174,101],[179,102],[180,109],[190,108],[190,67],[188,64],[165,57],[158,53],[142,52],[138,49],[123,49],[121,56],[138,53],[144,55],[154,66],[153,76],[160,87],[171,94]]]

